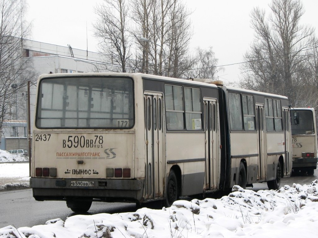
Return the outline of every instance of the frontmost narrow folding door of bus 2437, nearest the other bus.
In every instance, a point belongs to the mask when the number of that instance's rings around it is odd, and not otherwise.
[[[291,152],[292,152],[292,142],[291,142],[291,127],[290,127],[290,113],[288,107],[283,107],[283,129],[284,129],[284,148],[285,148],[285,162],[284,162],[284,175],[290,175],[291,173]]]

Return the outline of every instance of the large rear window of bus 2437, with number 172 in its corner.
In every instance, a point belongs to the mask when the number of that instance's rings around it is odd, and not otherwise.
[[[38,128],[131,128],[133,80],[124,77],[44,78],[39,83]]]

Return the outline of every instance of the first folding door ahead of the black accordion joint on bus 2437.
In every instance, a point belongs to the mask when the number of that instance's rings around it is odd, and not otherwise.
[[[265,155],[265,127],[264,127],[264,104],[256,103],[256,130],[257,130],[257,145],[258,145],[258,174],[257,180],[266,179],[267,156]]]

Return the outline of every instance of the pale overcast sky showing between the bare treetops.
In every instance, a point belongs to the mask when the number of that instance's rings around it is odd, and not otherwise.
[[[27,20],[32,23],[31,40],[97,52],[92,23],[96,20],[93,7],[103,0],[27,0]],[[271,0],[184,0],[193,11],[191,21],[194,35],[190,47],[212,46],[219,65],[219,80],[239,79],[239,64],[253,40],[250,13],[259,6],[269,13]],[[318,30],[318,1],[302,0],[305,14],[302,23]],[[86,24],[87,23],[87,24]],[[87,44],[86,44],[87,25]]]

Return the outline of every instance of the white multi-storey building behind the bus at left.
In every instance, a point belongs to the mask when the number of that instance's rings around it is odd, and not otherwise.
[[[23,57],[31,59],[33,70],[36,72],[36,79],[41,74],[53,73],[83,73],[83,72],[121,72],[120,65],[105,63],[103,55],[100,53],[72,49],[70,45],[60,46],[49,43],[23,39]],[[27,85],[25,91],[13,95],[16,97],[15,104],[10,105],[10,122],[24,123],[27,121]],[[32,129],[34,124],[34,111],[36,102],[36,80],[30,85],[30,129],[32,136]],[[17,133],[21,128],[12,127],[15,138],[21,140],[25,139],[25,133]],[[8,128],[10,131],[10,128]],[[0,149],[7,149],[5,137],[8,133],[4,133],[1,138]],[[12,136],[9,136],[12,137]],[[20,138],[21,137],[21,138]],[[24,137],[24,138],[23,138]],[[26,144],[25,144],[26,145]],[[24,146],[25,147],[25,146]],[[10,146],[9,146],[10,148]],[[10,148],[12,149],[12,148]],[[15,148],[17,149],[17,148]],[[27,149],[27,148],[23,148]]]

